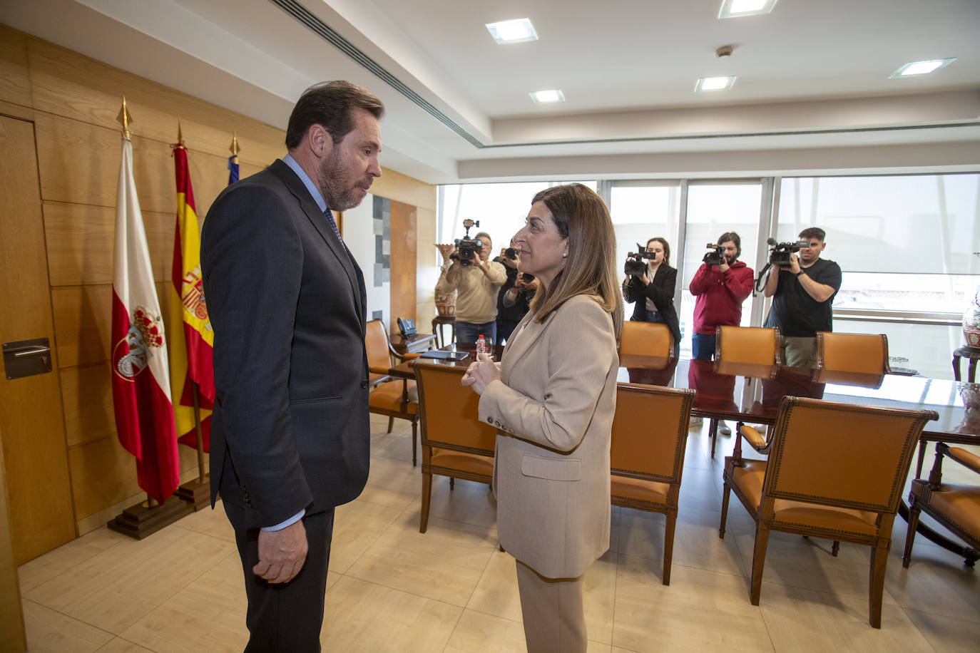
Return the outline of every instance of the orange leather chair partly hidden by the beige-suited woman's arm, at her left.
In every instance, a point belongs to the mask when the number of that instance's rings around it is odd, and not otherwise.
[[[418,532],[428,527],[432,475],[490,485],[497,430],[477,418],[479,396],[460,383],[465,367],[414,362],[422,418],[422,509]]]

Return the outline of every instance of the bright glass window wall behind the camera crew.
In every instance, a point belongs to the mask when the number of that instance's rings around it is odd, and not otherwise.
[[[462,220],[470,217],[498,248],[506,247],[534,194],[558,183],[442,186],[439,242],[462,237]],[[766,259],[762,241],[795,241],[803,229],[818,226],[827,233],[823,257],[844,272],[834,330],[884,333],[894,367],[953,378],[952,353],[963,344],[959,320],[980,283],[980,256],[974,256],[980,252],[980,174],[583,183],[610,207],[620,260],[651,237],[670,243],[670,264],[679,270],[674,302],[682,356],[691,351],[695,298],[688,287],[708,243],[737,232],[740,258],[758,277]],[[625,309],[631,314],[632,304]],[[750,297],[742,324],[761,324],[767,310],[761,293]]]

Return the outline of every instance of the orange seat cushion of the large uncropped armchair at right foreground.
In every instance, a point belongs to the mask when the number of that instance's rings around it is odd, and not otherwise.
[[[732,480],[755,506],[758,513],[762,500],[762,481],[765,479],[764,460],[744,460],[745,467],[732,469]],[[817,505],[806,501],[776,499],[773,502],[773,521],[786,525],[802,525],[863,536],[877,534],[877,513],[851,508]]]

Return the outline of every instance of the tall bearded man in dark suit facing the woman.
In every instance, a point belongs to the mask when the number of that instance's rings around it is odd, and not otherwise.
[[[368,480],[365,283],[330,210],[381,175],[383,112],[350,82],[307,89],[288,156],[226,188],[204,222],[212,504],[221,493],[242,559],[246,651],[319,651],[333,509]]]

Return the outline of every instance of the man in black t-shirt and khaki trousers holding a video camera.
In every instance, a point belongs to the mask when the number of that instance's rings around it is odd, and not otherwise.
[[[763,293],[772,298],[765,326],[779,327],[783,364],[816,366],[816,332],[833,331],[831,304],[841,288],[841,266],[820,258],[827,244],[823,229],[809,227],[800,240],[809,247],[790,255],[789,265],[773,265]]]

